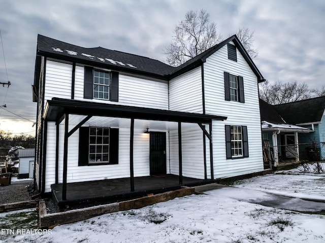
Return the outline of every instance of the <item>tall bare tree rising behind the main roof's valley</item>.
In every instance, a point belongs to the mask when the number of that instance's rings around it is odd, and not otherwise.
[[[175,26],[174,34],[173,43],[165,50],[167,62],[172,66],[183,64],[221,40],[216,23],[210,22],[210,15],[204,9],[200,13],[187,12],[185,19]]]

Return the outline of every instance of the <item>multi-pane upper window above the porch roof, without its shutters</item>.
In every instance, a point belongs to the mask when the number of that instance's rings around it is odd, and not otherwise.
[[[110,73],[100,70],[93,72],[93,98],[108,100],[110,96]]]

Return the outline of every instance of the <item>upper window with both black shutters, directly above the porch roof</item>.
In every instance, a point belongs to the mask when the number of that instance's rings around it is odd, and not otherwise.
[[[119,74],[85,66],[84,99],[118,101]]]

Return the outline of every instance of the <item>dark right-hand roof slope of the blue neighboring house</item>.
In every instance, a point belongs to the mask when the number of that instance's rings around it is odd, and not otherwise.
[[[316,123],[325,109],[325,96],[274,105],[275,110],[288,124]]]

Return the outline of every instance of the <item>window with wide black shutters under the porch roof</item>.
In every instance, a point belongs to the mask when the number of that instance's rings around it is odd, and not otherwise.
[[[118,129],[81,127],[79,166],[118,164]]]

